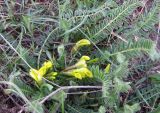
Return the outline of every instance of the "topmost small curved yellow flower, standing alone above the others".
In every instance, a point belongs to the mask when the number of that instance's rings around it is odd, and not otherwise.
[[[83,46],[87,46],[90,45],[91,42],[87,39],[81,39],[80,41],[78,41],[75,46],[73,46],[72,48],[72,52],[76,52],[79,48],[83,47]]]

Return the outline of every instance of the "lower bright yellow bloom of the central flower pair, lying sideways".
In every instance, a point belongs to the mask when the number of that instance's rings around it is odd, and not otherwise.
[[[89,77],[89,78],[93,77],[92,72],[87,68],[73,69],[73,70],[70,70],[68,72],[68,74],[70,74],[78,79],[82,79],[82,78],[86,78],[86,77]]]

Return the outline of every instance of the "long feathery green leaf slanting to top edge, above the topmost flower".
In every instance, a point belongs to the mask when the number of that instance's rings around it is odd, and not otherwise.
[[[121,6],[111,9],[108,11],[106,19],[100,21],[100,24],[91,31],[91,34],[94,34],[93,36],[91,35],[91,38],[99,42],[101,38],[97,37],[98,35],[104,37],[104,35],[110,34],[114,29],[118,29],[126,20],[125,18],[139,6],[141,6],[141,3],[138,0],[129,0]],[[105,31],[104,34],[101,34],[103,31]]]

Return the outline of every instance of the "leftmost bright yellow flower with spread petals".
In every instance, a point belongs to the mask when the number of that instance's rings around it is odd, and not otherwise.
[[[43,63],[43,66],[39,70],[30,69],[29,74],[37,83],[41,83],[44,75],[46,75],[47,72],[52,69],[52,67],[53,67],[52,62],[47,61],[47,62]],[[57,75],[57,73],[56,72],[51,72],[47,75],[55,77]]]

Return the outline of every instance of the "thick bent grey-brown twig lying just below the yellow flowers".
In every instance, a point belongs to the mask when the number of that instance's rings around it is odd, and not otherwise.
[[[40,104],[43,104],[50,97],[54,96],[55,94],[57,94],[58,92],[60,92],[62,90],[78,89],[78,88],[81,88],[81,89],[101,89],[102,86],[63,86],[63,87],[60,87],[57,90],[53,91],[52,93],[50,93],[48,96],[46,96],[42,101],[40,101]]]

